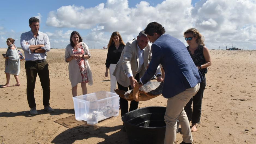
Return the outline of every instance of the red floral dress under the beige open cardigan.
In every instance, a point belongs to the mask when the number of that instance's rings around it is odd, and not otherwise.
[[[73,49],[74,54],[84,54],[83,46],[80,44],[79,48],[77,50]],[[89,82],[87,73],[86,73],[86,64],[85,64],[85,58],[76,59],[78,67],[80,69],[81,75],[82,75],[82,83]]]

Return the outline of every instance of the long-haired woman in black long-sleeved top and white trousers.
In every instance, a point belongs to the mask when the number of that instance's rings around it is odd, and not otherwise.
[[[108,69],[110,74],[110,92],[115,93],[116,89],[116,77],[113,76],[113,72],[116,68],[116,63],[121,57],[121,53],[124,49],[125,43],[119,34],[119,32],[113,32],[108,44],[108,54],[106,59],[106,72],[105,76],[108,77]]]

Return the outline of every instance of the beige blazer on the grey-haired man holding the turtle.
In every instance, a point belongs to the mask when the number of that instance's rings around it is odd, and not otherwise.
[[[147,44],[144,50],[144,63],[140,71],[140,78],[146,72],[147,64],[151,60],[151,45],[152,44]],[[113,72],[113,75],[116,76],[116,80],[118,81],[118,83],[124,87],[128,87],[130,85],[129,78],[126,75],[128,73],[132,73],[133,77],[135,78],[136,74],[138,73],[139,58],[137,48],[137,39],[135,39],[134,41],[127,42],[127,44],[124,47],[124,50],[122,51],[121,57],[118,63],[116,64],[116,69]],[[157,72],[160,72],[160,68],[157,70]]]

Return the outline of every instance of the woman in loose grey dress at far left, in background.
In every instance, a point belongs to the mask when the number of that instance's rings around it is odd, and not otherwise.
[[[5,58],[5,75],[6,75],[6,84],[2,85],[2,88],[10,86],[10,74],[14,75],[16,79],[16,84],[13,86],[20,86],[19,82],[19,73],[20,73],[20,57],[19,52],[14,45],[14,39],[8,38],[6,43],[8,45],[6,54],[3,54]]]

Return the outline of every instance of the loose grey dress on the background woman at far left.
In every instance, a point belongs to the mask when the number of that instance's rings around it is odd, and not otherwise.
[[[11,47],[14,46],[15,49],[12,50]],[[19,52],[14,44],[11,44],[6,51],[5,56],[9,59],[5,59],[5,73],[10,73],[12,75],[19,75],[20,73],[20,57]]]

